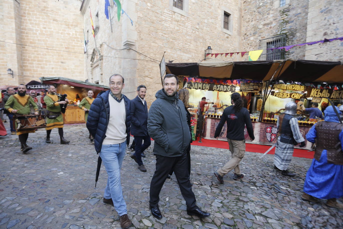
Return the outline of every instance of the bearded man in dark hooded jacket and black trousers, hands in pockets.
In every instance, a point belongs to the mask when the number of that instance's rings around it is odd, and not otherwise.
[[[158,208],[159,192],[171,170],[174,171],[182,196],[187,205],[187,214],[200,218],[210,216],[196,205],[196,199],[189,181],[187,147],[191,135],[187,124],[184,103],[178,99],[178,79],[167,74],[163,79],[163,89],[157,91],[156,100],[152,103],[147,129],[149,136],[155,140],[154,154],[156,170],[150,184],[151,214],[161,219]]]

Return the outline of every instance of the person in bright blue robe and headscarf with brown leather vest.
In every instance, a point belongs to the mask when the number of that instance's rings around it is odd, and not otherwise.
[[[343,209],[336,200],[343,196],[343,125],[333,109],[342,114],[338,107],[328,106],[324,121],[312,126],[306,135],[308,141],[316,142],[316,150],[301,198],[315,203],[327,199],[329,207]]]

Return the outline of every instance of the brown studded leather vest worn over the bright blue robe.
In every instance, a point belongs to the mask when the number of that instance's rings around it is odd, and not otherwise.
[[[316,124],[315,128],[317,131],[315,159],[319,161],[321,152],[326,149],[329,163],[343,165],[341,141],[338,138],[343,129],[343,125],[335,122],[322,121]]]

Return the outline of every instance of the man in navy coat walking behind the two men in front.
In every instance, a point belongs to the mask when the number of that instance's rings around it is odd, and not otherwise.
[[[131,158],[137,162],[138,169],[146,172],[142,157],[144,150],[151,144],[151,140],[147,130],[148,107],[145,101],[146,87],[139,85],[137,88],[137,96],[131,100],[131,134],[136,143],[135,153],[131,154]],[[144,144],[142,145],[142,141]]]

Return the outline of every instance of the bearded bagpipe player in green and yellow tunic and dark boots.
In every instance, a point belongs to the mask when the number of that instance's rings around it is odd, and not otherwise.
[[[58,134],[60,135],[61,144],[67,144],[67,141],[63,138],[63,116],[61,114],[60,104],[68,104],[68,99],[66,101],[59,101],[56,94],[56,88],[54,85],[48,86],[48,94],[44,97],[44,102],[47,109],[47,119],[46,119],[46,143],[51,143],[50,133],[54,128],[58,128]]]

